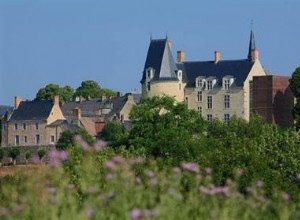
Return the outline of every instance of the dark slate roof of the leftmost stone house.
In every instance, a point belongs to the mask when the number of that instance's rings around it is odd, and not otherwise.
[[[10,120],[46,120],[53,105],[53,101],[23,101],[13,111]]]

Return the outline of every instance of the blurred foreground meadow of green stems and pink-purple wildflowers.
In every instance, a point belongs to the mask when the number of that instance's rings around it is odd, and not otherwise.
[[[129,150],[89,147],[49,152],[48,165],[16,167],[0,177],[0,219],[299,219],[299,202],[264,192],[258,180],[223,185],[198,163],[164,165]]]

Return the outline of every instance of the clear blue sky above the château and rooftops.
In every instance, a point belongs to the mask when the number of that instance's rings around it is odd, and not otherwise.
[[[153,38],[187,60],[247,56],[251,20],[262,65],[300,66],[300,0],[0,0],[0,104],[33,99],[49,83],[83,80],[129,92]]]

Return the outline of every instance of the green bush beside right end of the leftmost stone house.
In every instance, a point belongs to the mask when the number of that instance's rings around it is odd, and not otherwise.
[[[94,138],[84,129],[78,129],[76,131],[66,130],[61,133],[60,138],[56,143],[56,148],[66,150],[73,147],[75,145],[74,138],[76,136],[82,137],[89,145],[93,145],[95,142]]]

